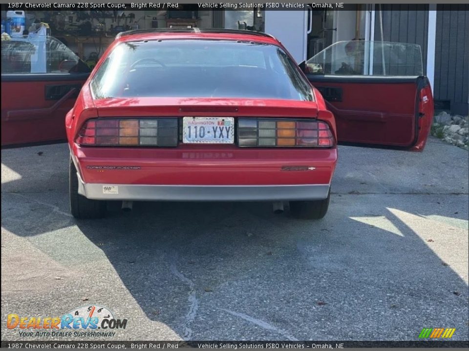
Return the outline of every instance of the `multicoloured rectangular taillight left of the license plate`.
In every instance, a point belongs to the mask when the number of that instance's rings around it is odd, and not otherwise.
[[[78,133],[83,146],[177,146],[177,118],[89,119]]]

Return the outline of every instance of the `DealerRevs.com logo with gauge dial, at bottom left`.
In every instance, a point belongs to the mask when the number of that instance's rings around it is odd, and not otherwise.
[[[115,330],[126,329],[127,319],[114,318],[106,307],[92,305],[73,309],[62,317],[27,317],[10,313],[6,327],[18,328],[19,335],[24,337],[114,336]]]

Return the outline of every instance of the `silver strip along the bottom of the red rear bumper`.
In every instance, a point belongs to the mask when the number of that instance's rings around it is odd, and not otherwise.
[[[77,174],[78,175],[78,174]],[[112,187],[111,192],[105,187]],[[128,185],[85,183],[78,193],[94,200],[133,201],[289,201],[327,198],[329,184],[312,185]]]

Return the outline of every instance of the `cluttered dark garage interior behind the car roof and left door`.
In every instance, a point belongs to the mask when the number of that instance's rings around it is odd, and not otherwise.
[[[93,67],[114,40],[126,30],[150,28],[230,28],[263,31],[264,10],[200,10],[196,4],[179,4],[177,10],[128,11],[24,11],[24,29],[47,23],[47,34],[59,39]],[[2,33],[8,25],[1,11]],[[31,30],[29,30],[31,29]]]

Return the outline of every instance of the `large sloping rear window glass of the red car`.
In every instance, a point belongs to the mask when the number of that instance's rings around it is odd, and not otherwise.
[[[95,98],[190,97],[313,100],[278,46],[171,39],[116,46],[91,82]]]

